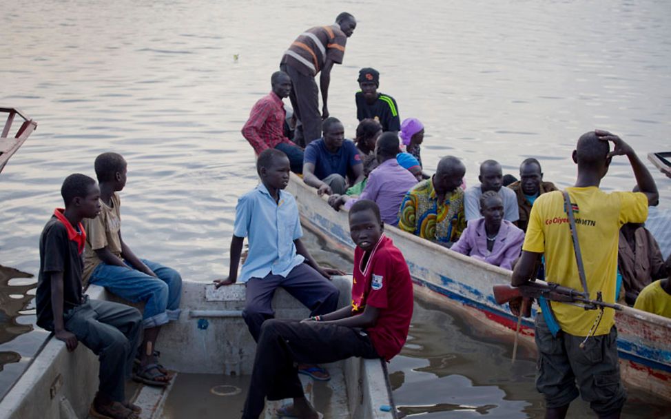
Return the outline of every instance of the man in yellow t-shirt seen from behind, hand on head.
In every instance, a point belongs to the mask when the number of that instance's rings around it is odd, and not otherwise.
[[[612,152],[608,141],[615,145]],[[628,157],[641,192],[609,194],[599,189],[612,156],[622,155]],[[657,186],[632,147],[609,132],[583,134],[572,158],[578,165],[578,176],[575,186],[566,192],[575,216],[590,298],[601,292],[603,301],[615,303],[619,229],[625,223],[646,220],[648,205],[657,203],[659,197]],[[548,282],[583,292],[564,196],[559,191],[539,196],[532,207],[513,285],[524,285],[532,278],[543,255]],[[541,313],[535,327],[539,356],[536,388],[545,396],[546,418],[566,417],[570,402],[579,394],[599,418],[619,418],[626,392],[619,376],[615,312],[605,309],[595,327],[598,310],[557,302],[550,306],[561,330],[553,336],[544,319],[548,314]],[[595,330],[590,333],[592,327]]]

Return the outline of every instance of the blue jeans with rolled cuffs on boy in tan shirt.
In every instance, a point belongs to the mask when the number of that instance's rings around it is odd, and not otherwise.
[[[100,263],[93,270],[90,283],[105,287],[124,300],[145,303],[142,325],[145,329],[165,325],[179,318],[182,277],[175,269],[151,260],[141,259],[158,278],[132,267]]]

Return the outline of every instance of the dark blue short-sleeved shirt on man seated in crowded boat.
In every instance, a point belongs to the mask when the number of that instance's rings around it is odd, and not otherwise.
[[[342,147],[337,152],[331,153],[324,144],[324,138],[312,141],[305,147],[303,163],[313,163],[315,165],[315,176],[322,180],[323,178],[337,173],[342,177],[353,177],[351,170],[355,165],[360,165],[361,156],[359,150],[353,141],[345,140]]]

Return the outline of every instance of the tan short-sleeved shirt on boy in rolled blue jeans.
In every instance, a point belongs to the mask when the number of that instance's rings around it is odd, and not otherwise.
[[[121,258],[121,199],[116,192],[112,195],[112,205],[100,201],[100,214],[96,218],[84,218],[86,231],[84,247],[83,283],[87,284],[94,269],[102,262],[96,254],[97,249],[107,249]]]

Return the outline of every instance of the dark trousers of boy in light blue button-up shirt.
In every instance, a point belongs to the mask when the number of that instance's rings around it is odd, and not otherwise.
[[[340,292],[336,285],[305,263],[291,269],[286,277],[270,273],[265,278],[249,278],[242,318],[256,342],[262,323],[275,315],[271,303],[278,287],[286,289],[309,308],[311,316],[331,313],[338,308]]]

